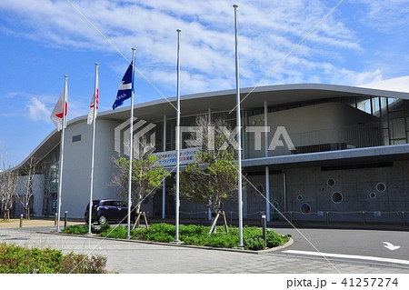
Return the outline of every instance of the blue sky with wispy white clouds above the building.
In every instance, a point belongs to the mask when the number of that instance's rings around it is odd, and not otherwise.
[[[234,4],[241,87],[409,75],[409,0],[1,0],[3,164],[19,165],[55,130],[64,75],[68,121],[87,115],[95,62],[100,111],[112,110],[132,47],[135,104],[175,96],[176,29],[181,95],[234,89]]]

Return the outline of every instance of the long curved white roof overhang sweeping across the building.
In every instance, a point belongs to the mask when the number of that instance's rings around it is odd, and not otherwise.
[[[409,76],[405,76],[401,81],[407,79],[409,79]],[[401,86],[397,88],[400,89]],[[240,93],[242,109],[263,107],[264,101],[267,102],[267,105],[284,105],[348,96],[387,96],[409,100],[409,90],[408,92],[399,92],[392,89],[387,90],[362,86],[322,84],[268,85],[255,88],[247,87],[240,89]],[[234,110],[236,103],[235,94],[235,89],[232,89],[194,95],[183,95],[181,96],[181,114],[205,114],[208,108],[211,108],[214,112]],[[171,119],[176,115],[175,105],[175,97],[168,98],[167,100],[161,99],[137,104],[134,108],[134,115],[138,119],[143,119],[148,122],[161,121],[163,120],[164,115],[166,115],[168,119]],[[125,121],[129,119],[129,109],[130,106],[125,106],[115,111],[101,112],[98,114],[98,119]],[[79,116],[70,120],[67,125],[85,122],[86,118],[87,115]],[[32,155],[38,155],[40,158],[44,157],[51,152],[59,142],[60,134],[56,130],[51,132],[45,140],[38,145],[20,165],[15,166],[15,168],[24,165],[26,160]]]

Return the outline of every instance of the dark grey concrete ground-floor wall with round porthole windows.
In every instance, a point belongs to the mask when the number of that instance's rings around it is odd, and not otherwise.
[[[334,171],[321,171],[321,167],[286,169],[286,211],[294,213],[294,220],[323,222],[327,211],[331,221],[362,222],[362,211],[365,211],[367,222],[401,223],[402,211],[409,211],[409,177],[405,175],[408,170],[408,161],[395,161],[392,167]],[[282,177],[270,175],[270,201],[276,201],[280,211],[284,211]],[[249,179],[254,185],[265,184],[264,175],[250,176]],[[334,185],[328,185],[329,179],[334,180]],[[379,183],[385,185],[384,191],[376,187]],[[265,211],[264,198],[256,195],[254,189],[248,191],[248,212]],[[342,202],[333,202],[335,192],[342,195]],[[301,213],[304,203],[311,207],[309,214]],[[381,212],[381,216],[374,216],[377,215],[375,212]]]

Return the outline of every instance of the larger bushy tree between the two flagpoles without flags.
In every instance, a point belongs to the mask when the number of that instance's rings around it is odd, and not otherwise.
[[[202,143],[202,150],[196,155],[195,162],[186,165],[181,172],[180,195],[209,207],[214,216],[222,199],[238,188],[238,167],[232,142],[234,136],[228,125],[220,120],[211,124],[207,118],[199,117],[196,126],[198,132],[195,137]]]

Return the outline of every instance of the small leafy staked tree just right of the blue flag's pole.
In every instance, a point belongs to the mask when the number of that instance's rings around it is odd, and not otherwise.
[[[135,212],[141,210],[141,203],[145,196],[154,195],[155,189],[160,187],[162,181],[169,173],[157,164],[157,157],[152,155],[153,148],[146,151],[145,142],[139,144],[139,158],[132,160],[132,191],[131,200],[135,205]],[[121,195],[124,200],[128,193],[129,160],[122,157],[115,159],[115,166],[118,172],[113,175],[112,185],[121,188]]]

